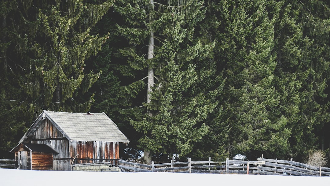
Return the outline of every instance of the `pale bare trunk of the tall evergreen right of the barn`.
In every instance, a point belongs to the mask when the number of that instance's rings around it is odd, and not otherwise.
[[[150,0],[150,7],[151,7],[151,9],[153,9],[153,0]],[[152,22],[150,13],[149,13],[149,22]],[[153,58],[153,46],[154,46],[153,30],[151,30],[150,31],[150,36],[149,36],[148,59]],[[153,84],[154,84],[154,82],[153,82],[153,68],[149,64],[147,103],[150,103],[150,100],[151,100],[151,93],[152,93]],[[147,107],[147,110],[149,112],[149,116],[152,117],[152,113],[149,111],[148,107]],[[151,152],[145,149],[143,159],[146,161],[146,164],[151,164]]]

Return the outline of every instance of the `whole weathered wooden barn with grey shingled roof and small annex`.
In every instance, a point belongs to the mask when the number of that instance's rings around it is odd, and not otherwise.
[[[44,110],[10,152],[16,169],[71,170],[72,163],[116,164],[119,143],[129,140],[104,112]]]

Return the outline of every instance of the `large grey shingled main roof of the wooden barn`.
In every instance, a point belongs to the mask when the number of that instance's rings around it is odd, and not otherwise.
[[[48,118],[69,140],[129,143],[117,125],[104,113],[70,113],[44,110],[21,141]]]

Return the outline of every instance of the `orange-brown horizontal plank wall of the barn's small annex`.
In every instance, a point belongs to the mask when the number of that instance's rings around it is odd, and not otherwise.
[[[53,154],[32,152],[32,170],[51,170]]]

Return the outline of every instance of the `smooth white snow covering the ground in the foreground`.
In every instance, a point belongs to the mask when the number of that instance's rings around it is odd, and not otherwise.
[[[330,185],[330,177],[242,175],[242,174],[188,174],[170,172],[78,172],[38,171],[0,168],[1,186],[323,186]]]

